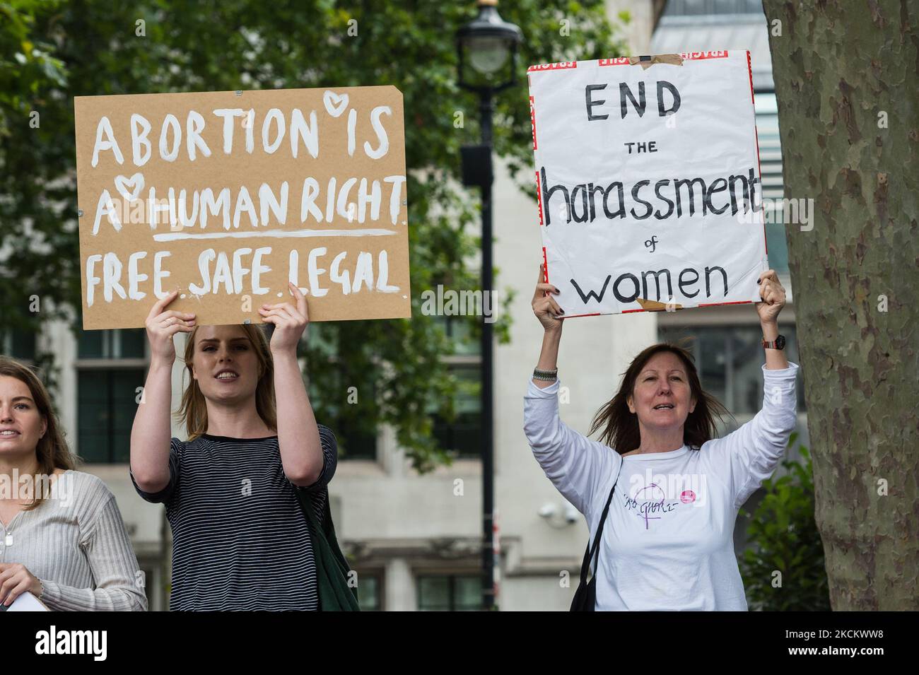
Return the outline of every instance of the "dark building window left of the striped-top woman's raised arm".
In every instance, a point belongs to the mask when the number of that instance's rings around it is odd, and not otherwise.
[[[130,428],[146,374],[143,329],[80,331],[77,447],[86,462],[130,461]]]

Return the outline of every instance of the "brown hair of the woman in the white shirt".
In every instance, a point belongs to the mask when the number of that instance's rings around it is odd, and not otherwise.
[[[635,390],[635,380],[641,370],[654,354],[671,352],[686,366],[686,377],[689,380],[691,396],[696,399],[696,408],[686,417],[683,426],[683,443],[693,448],[700,448],[717,433],[715,418],[723,419],[731,413],[720,404],[718,399],[702,390],[698,371],[693,363],[693,356],[684,347],[673,343],[652,344],[641,354],[632,359],[628,370],[622,378],[619,390],[611,400],[596,411],[591,422],[590,433],[600,431],[600,443],[614,448],[623,455],[641,446],[641,431],[638,415],[629,410],[628,399]]]

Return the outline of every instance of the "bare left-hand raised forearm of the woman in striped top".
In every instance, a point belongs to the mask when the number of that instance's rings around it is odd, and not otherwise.
[[[195,326],[194,314],[165,309],[176,295],[178,291],[173,291],[159,300],[147,316],[150,370],[130,429],[130,473],[137,487],[149,493],[169,483],[172,367],[176,361],[173,336],[191,332]]]

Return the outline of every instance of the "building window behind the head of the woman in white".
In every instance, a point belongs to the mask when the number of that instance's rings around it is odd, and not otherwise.
[[[764,351],[759,326],[658,326],[661,342],[678,343],[689,338],[686,348],[695,357],[702,388],[720,400],[737,417],[753,416],[763,407]],[[785,354],[798,360],[794,326],[783,326]],[[804,409],[804,385],[798,383],[798,411]]]

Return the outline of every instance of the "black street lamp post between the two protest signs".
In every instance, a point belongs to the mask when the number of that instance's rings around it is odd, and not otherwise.
[[[482,307],[492,293],[492,114],[494,94],[514,84],[523,34],[498,15],[497,0],[479,0],[479,14],[457,31],[459,86],[479,95],[480,145],[464,146],[463,184],[482,188]],[[467,65],[469,70],[467,70]],[[482,607],[494,604],[494,345],[482,317]]]

